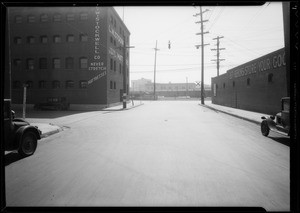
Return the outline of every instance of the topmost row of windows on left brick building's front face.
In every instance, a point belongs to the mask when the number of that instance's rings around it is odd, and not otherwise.
[[[65,20],[66,21],[75,21],[77,19],[77,15],[78,15],[78,20],[80,21],[86,21],[88,20],[88,14],[87,13],[80,13],[80,14],[75,14],[75,13],[68,13],[65,15]],[[60,13],[56,13],[54,14],[52,17],[48,14],[41,14],[41,15],[27,15],[26,17],[23,17],[21,15],[16,15],[14,18],[14,21],[16,24],[21,24],[24,22],[27,23],[35,23],[35,22],[49,22],[49,21],[53,21],[53,22],[62,22],[64,20],[64,17],[62,14]]]

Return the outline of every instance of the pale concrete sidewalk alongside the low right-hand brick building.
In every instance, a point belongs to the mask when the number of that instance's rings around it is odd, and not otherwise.
[[[226,107],[218,104],[213,104],[211,101],[205,101],[204,105],[199,104],[200,106],[210,108],[212,110],[216,110],[243,120],[250,121],[255,124],[260,124],[262,119],[262,116],[268,117],[269,115],[259,112],[251,112],[247,110],[242,109],[236,109],[232,107]]]

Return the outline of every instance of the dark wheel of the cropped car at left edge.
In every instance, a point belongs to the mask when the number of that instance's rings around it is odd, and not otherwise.
[[[22,157],[27,157],[32,155],[37,147],[37,138],[33,132],[25,132],[22,136],[21,144],[19,147],[19,154]]]

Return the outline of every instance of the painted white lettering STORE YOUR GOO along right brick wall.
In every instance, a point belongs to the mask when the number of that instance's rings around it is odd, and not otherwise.
[[[285,52],[281,51],[275,55],[266,56],[243,67],[229,70],[227,73],[229,74],[229,78],[232,79],[267,71],[270,69],[280,68],[285,65]]]

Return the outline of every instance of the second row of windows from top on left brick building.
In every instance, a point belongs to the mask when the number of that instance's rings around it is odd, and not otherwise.
[[[52,36],[52,42],[53,43],[62,43],[62,36],[60,35],[54,35]],[[25,38],[25,42],[27,44],[35,44],[35,43],[42,43],[42,44],[47,44],[49,43],[50,39],[48,36],[46,35],[41,35],[39,37],[35,37],[35,36],[27,36]],[[68,34],[65,37],[65,41],[68,43],[73,43],[75,42],[75,35],[73,34]],[[88,41],[88,35],[87,34],[79,34],[79,41],[80,42],[87,42]],[[23,42],[23,38],[17,36],[14,37],[14,43],[15,44],[22,44]]]

